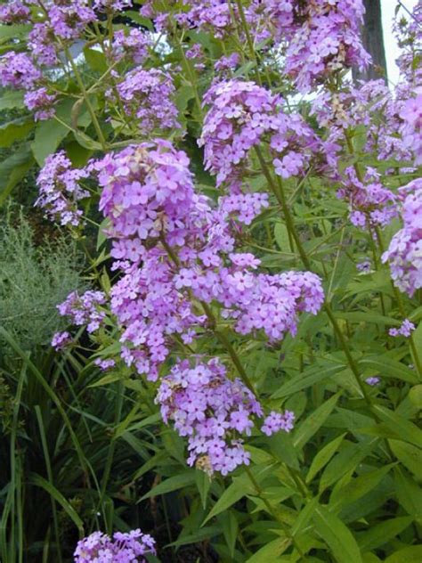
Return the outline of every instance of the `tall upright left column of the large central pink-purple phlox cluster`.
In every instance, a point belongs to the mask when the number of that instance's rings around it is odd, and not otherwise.
[[[93,165],[102,187],[100,208],[110,219],[114,267],[124,273],[110,302],[123,329],[123,357],[150,379],[158,377],[171,336],[205,322],[174,286],[175,266],[159,244],[161,238],[183,247],[197,218],[199,198],[188,165],[186,154],[165,141],[131,146]]]

